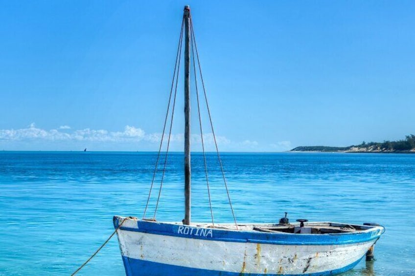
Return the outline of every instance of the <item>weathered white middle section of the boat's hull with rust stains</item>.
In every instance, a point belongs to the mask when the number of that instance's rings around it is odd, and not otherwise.
[[[193,235],[189,235],[190,231],[183,234],[183,226],[178,234],[151,234],[139,232],[137,221],[125,221],[122,230],[117,231],[124,264],[149,262],[153,270],[154,264],[160,264],[165,267],[160,275],[176,275],[163,271],[178,267],[183,271],[185,268],[199,270],[201,275],[327,275],[350,269],[377,240],[332,245],[234,242],[232,239],[214,240],[215,232],[200,239],[194,235],[197,227],[192,228]],[[285,235],[299,237],[299,234]],[[194,271],[191,273],[195,275]],[[144,274],[132,270],[127,271],[127,275]]]

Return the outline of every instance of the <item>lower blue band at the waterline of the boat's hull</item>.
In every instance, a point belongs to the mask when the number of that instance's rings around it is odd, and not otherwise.
[[[151,261],[138,260],[125,256],[122,256],[122,260],[124,262],[125,274],[127,276],[298,276],[294,274],[249,274],[239,272],[216,271],[208,269],[197,269],[191,267],[183,267],[177,265],[169,265]],[[340,274],[352,269],[357,263],[360,262],[360,260],[361,259],[343,268],[318,273],[301,274],[301,276],[327,276]]]

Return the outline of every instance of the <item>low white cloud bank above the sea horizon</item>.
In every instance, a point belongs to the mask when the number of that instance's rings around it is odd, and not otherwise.
[[[79,149],[81,145],[92,150],[158,150],[161,133],[146,133],[142,128],[125,126],[122,131],[105,129],[75,129],[64,125],[55,129],[46,130],[36,127],[34,123],[25,128],[0,129],[0,146],[5,150],[69,150]],[[164,134],[163,145],[167,142]],[[205,150],[213,151],[214,139],[212,133],[203,134]],[[260,145],[257,141],[231,141],[224,136],[216,136],[221,151],[285,151],[291,149],[289,141],[275,144]],[[170,150],[182,151],[184,134],[170,136]],[[191,135],[194,150],[202,150],[200,134]],[[36,146],[35,149],[30,148]]]

